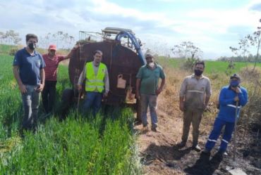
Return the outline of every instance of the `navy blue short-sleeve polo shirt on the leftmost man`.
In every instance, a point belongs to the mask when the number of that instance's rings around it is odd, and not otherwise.
[[[16,52],[13,65],[19,67],[19,75],[23,84],[37,85],[41,83],[40,70],[45,67],[42,55],[37,51],[30,55],[25,48]]]

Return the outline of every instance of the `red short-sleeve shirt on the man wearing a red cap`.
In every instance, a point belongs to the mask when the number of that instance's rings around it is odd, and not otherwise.
[[[56,82],[58,66],[59,63],[64,60],[64,56],[54,56],[54,58],[51,59],[48,54],[44,54],[42,57],[44,58],[44,63],[46,64],[46,67],[44,67],[45,80]]]

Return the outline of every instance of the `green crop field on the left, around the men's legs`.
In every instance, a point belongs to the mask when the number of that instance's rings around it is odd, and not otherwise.
[[[114,108],[95,119],[71,110],[61,122],[57,116],[46,117],[40,106],[37,131],[21,138],[23,108],[13,56],[0,48],[0,174],[140,174],[128,108]],[[71,88],[68,67],[59,66],[56,88],[58,108],[63,89]]]

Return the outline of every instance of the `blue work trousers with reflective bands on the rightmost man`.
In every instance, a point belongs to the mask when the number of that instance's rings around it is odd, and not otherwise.
[[[229,141],[231,140],[233,129],[235,127],[235,123],[226,122],[222,119],[216,118],[214,121],[214,127],[210,133],[210,137],[207,139],[207,143],[205,148],[207,150],[212,150],[215,143],[217,143],[217,138],[221,133],[221,129],[225,126],[225,131],[221,140],[219,151],[225,152]]]

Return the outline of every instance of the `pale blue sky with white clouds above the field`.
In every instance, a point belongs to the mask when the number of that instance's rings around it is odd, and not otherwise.
[[[131,29],[152,51],[165,54],[182,41],[192,41],[203,58],[232,56],[229,46],[260,26],[257,0],[3,0],[0,31],[44,36],[104,27]],[[24,41],[25,42],[25,41]]]

